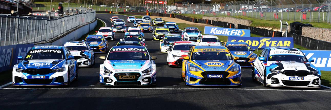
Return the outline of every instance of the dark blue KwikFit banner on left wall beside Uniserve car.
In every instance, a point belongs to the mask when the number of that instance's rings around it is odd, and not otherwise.
[[[0,72],[13,69],[15,64],[20,63],[18,56],[25,56],[34,44],[18,44],[0,46]]]

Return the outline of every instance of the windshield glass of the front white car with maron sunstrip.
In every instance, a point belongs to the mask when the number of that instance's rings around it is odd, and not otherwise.
[[[128,51],[128,52],[110,52],[107,60],[148,60],[146,52]]]

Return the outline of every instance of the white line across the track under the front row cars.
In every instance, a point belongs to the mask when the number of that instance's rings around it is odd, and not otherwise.
[[[326,90],[286,90],[286,89],[244,89],[244,88],[0,88],[0,90],[262,90],[262,91],[302,91],[331,92]]]

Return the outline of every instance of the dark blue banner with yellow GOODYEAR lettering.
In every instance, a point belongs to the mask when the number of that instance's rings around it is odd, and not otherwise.
[[[294,47],[293,38],[269,38],[269,37],[233,37],[229,36],[228,41],[246,42],[253,49],[266,47]]]

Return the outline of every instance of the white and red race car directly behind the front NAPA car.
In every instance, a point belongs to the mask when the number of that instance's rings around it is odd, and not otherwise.
[[[191,47],[197,46],[194,41],[175,41],[171,48],[168,48],[167,63],[168,66],[181,66],[183,57],[187,56]]]

